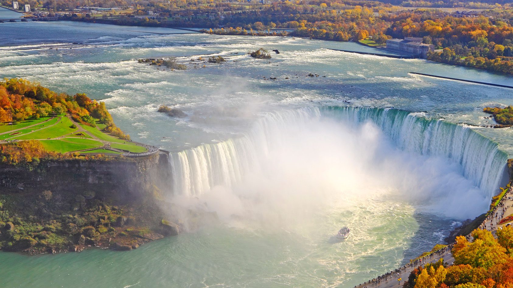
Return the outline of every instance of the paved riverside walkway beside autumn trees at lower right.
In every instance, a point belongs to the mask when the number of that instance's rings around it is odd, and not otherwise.
[[[502,228],[509,223],[513,224],[513,222],[503,224],[498,224],[498,222],[502,218],[511,214],[513,214],[513,190],[510,188],[499,202],[497,207],[494,209],[494,211],[488,215],[488,217],[483,221],[479,228],[487,229],[488,231],[491,231],[494,237],[497,237],[496,231],[498,228]],[[469,241],[471,240],[470,235],[467,235],[466,238]],[[428,263],[437,262],[440,258],[443,258],[444,262],[452,264],[454,262],[454,257],[452,257],[452,254],[450,253],[452,245],[453,243],[449,244],[446,248],[433,252],[430,255],[423,257],[415,262],[403,265],[400,269],[390,271],[389,273],[371,279],[355,287],[402,288],[404,281],[408,280],[408,276],[410,275],[411,271],[418,266],[424,266]],[[398,281],[399,278],[401,278],[401,281]]]

